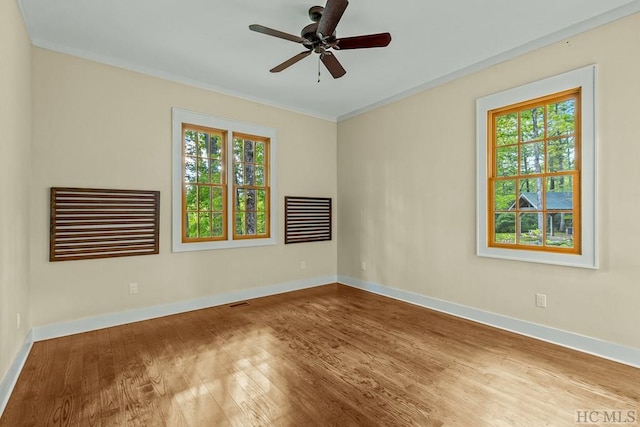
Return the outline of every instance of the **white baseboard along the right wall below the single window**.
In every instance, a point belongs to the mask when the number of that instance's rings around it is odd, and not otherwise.
[[[640,368],[640,349],[637,348],[626,347],[348,276],[338,276],[338,283]]]

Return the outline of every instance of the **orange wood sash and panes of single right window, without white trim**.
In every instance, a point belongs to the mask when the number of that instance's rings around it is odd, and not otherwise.
[[[490,112],[489,246],[579,253],[579,92]]]

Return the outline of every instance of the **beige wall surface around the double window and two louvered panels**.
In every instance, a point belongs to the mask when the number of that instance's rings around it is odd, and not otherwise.
[[[35,326],[334,276],[337,243],[171,252],[171,107],[277,129],[285,195],[337,196],[336,123],[34,48],[31,165]],[[48,261],[51,186],[160,190],[160,254]],[[307,268],[300,269],[306,261]],[[139,293],[129,295],[130,282]]]

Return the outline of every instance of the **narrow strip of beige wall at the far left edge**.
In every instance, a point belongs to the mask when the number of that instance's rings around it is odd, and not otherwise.
[[[31,42],[15,1],[0,2],[0,380],[29,321]],[[22,318],[16,328],[16,314]]]

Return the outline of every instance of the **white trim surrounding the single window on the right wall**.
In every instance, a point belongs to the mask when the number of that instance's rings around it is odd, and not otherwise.
[[[476,239],[477,255],[517,261],[598,268],[596,177],[596,65],[590,65],[476,101]],[[581,225],[582,253],[562,254],[488,246],[487,230],[487,114],[489,111],[574,88],[582,88]]]

